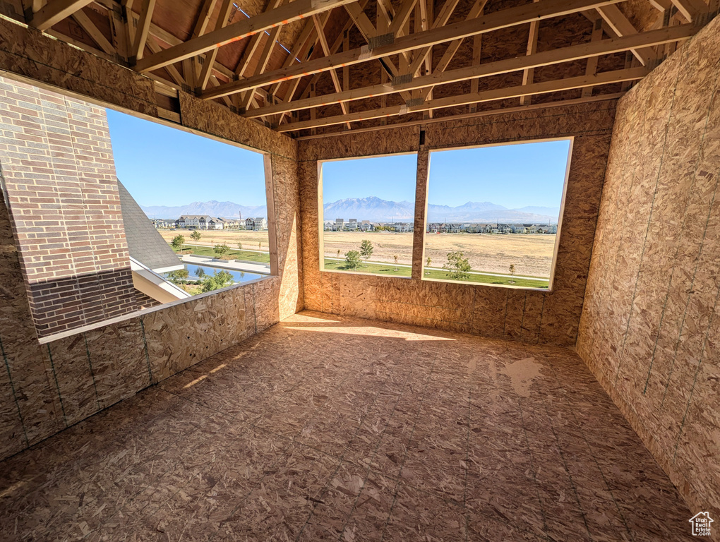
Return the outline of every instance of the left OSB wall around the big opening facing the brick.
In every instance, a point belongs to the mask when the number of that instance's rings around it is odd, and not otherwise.
[[[156,117],[149,79],[0,19],[0,69],[63,94]],[[269,153],[277,276],[139,312],[41,345],[17,238],[0,202],[0,459],[130,397],[303,306],[297,147],[284,135],[181,97],[182,125]]]

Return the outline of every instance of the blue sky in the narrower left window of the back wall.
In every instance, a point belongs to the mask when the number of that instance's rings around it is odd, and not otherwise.
[[[323,202],[377,196],[415,202],[418,155],[392,155],[323,163]]]

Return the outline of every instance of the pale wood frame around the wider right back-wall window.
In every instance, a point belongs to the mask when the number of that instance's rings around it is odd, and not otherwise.
[[[474,150],[474,149],[480,149],[480,148],[490,148],[490,147],[505,147],[508,145],[526,145],[528,143],[549,143],[552,141],[568,141],[570,143],[568,150],[567,150],[567,163],[565,166],[565,176],[564,180],[562,181],[562,196],[560,197],[560,212],[557,219],[557,232],[555,234],[555,243],[553,247],[552,252],[552,263],[550,266],[550,278],[548,282],[547,288],[533,288],[531,286],[513,286],[513,284],[486,284],[486,283],[473,283],[470,281],[454,281],[450,279],[433,279],[430,277],[425,276],[425,262],[426,262],[426,256],[425,256],[425,250],[426,250],[426,235],[428,235],[428,224],[430,223],[428,221],[428,205],[430,204],[430,171],[432,167],[432,155],[433,153],[441,153],[444,151],[449,150]],[[513,141],[503,141],[500,143],[484,143],[480,145],[454,145],[451,147],[443,147],[443,148],[430,148],[428,149],[428,171],[427,171],[427,179],[426,179],[426,198],[425,198],[425,209],[426,212],[423,216],[423,259],[420,262],[421,269],[420,269],[420,280],[423,281],[431,281],[431,282],[442,282],[442,283],[449,283],[449,284],[467,284],[469,286],[490,286],[495,288],[510,288],[510,289],[520,289],[520,290],[529,290],[531,292],[553,292],[554,290],[554,281],[555,281],[555,271],[557,268],[557,255],[559,252],[559,244],[560,244],[560,235],[562,232],[562,222],[564,219],[565,214],[565,200],[567,197],[567,184],[570,179],[570,168],[572,167],[572,150],[575,145],[575,136],[570,135],[567,137],[543,137],[538,139],[531,139],[531,140],[513,140]]]

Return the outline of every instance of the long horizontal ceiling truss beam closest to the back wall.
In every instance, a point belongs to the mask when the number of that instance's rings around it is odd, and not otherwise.
[[[649,73],[647,68],[629,68],[626,70],[608,71],[598,73],[594,76],[579,76],[559,79],[557,81],[544,81],[542,83],[532,83],[530,85],[513,86],[506,89],[495,89],[491,91],[482,91],[477,94],[461,94],[459,96],[448,96],[446,98],[438,98],[426,101],[418,107],[408,107],[405,104],[384,109],[371,109],[369,111],[359,111],[348,115],[338,115],[336,117],[324,117],[321,119],[307,120],[302,122],[291,122],[276,128],[278,132],[295,132],[297,130],[307,130],[308,128],[318,128],[321,126],[332,126],[343,124],[349,121],[363,121],[377,119],[380,117],[394,117],[397,115],[426,111],[428,109],[442,109],[444,107],[455,107],[459,105],[467,105],[480,103],[484,101],[497,101],[510,98],[519,98],[520,96],[528,96],[531,94],[548,94],[551,92],[560,92],[572,89],[582,89],[585,86],[607,85],[611,83],[619,83],[621,81],[636,81],[642,79]]]

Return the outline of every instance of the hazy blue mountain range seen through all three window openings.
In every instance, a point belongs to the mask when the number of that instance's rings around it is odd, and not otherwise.
[[[212,217],[267,217],[267,207],[246,206],[233,202],[192,202],[188,205],[166,207],[140,205],[150,218],[178,218],[181,214],[210,214]],[[338,199],[323,206],[325,221],[343,218],[399,222],[413,220],[414,204],[390,202],[379,197]],[[509,224],[557,224],[559,207],[528,206],[508,209],[492,202],[467,202],[457,207],[428,205],[428,222],[505,222]]]

